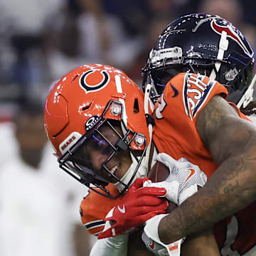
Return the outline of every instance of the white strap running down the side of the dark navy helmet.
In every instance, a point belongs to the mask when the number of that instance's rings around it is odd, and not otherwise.
[[[218,71],[220,70],[221,60],[223,60],[225,50],[228,50],[228,39],[227,39],[227,32],[222,31],[220,36],[220,43],[219,43],[219,50],[217,55],[217,60],[215,62],[215,69],[210,73],[210,79],[215,80]]]

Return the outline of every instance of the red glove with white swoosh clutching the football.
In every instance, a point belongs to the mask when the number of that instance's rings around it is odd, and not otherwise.
[[[149,178],[137,178],[129,187],[122,204],[107,213],[105,230],[98,235],[98,239],[110,238],[135,230],[146,220],[155,215],[165,213],[168,203],[164,196],[165,188],[144,187],[144,181]],[[113,225],[114,222],[114,225]],[[111,225],[112,224],[112,225]]]

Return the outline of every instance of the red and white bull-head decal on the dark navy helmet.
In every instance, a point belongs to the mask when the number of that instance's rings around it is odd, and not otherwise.
[[[240,33],[237,33],[235,30],[235,28],[233,28],[232,26],[230,26],[230,23],[224,23],[223,21],[218,22],[218,20],[214,19],[213,21],[211,21],[210,26],[213,28],[213,31],[215,31],[216,33],[218,33],[219,35],[221,35],[222,31],[227,32],[227,36],[229,38],[232,38],[234,41],[236,41],[240,47],[242,48],[242,50],[249,55],[250,57],[252,57],[253,53],[252,53],[252,49],[250,49],[250,51],[247,49],[247,47],[245,46],[245,43],[243,43],[242,39],[240,37],[243,38],[242,35],[240,35]],[[238,31],[240,32],[240,31]]]

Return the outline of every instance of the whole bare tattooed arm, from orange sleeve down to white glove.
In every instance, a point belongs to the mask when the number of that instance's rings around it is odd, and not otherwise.
[[[256,126],[220,96],[198,114],[198,133],[219,165],[198,193],[159,223],[165,243],[199,233],[256,198]]]

